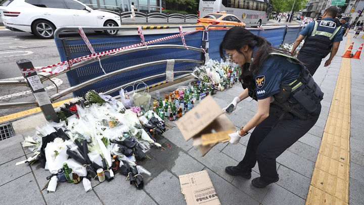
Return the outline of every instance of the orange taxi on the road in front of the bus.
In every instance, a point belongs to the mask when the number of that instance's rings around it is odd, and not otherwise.
[[[197,20],[197,25],[237,25],[245,26],[245,23],[240,21],[233,14],[227,14],[225,11],[221,13],[208,14]],[[202,28],[202,27],[201,27]],[[198,28],[199,29],[199,28]]]

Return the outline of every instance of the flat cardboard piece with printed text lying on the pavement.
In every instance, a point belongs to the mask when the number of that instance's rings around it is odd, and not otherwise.
[[[180,175],[181,192],[185,195],[187,205],[220,205],[215,188],[206,170]]]

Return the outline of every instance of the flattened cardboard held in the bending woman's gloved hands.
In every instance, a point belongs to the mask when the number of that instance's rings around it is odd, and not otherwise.
[[[215,132],[236,130],[234,124],[223,114],[222,109],[210,95],[181,117],[176,124],[186,141],[193,138],[194,145],[198,146],[202,156],[205,156],[218,142],[202,145],[201,135],[212,133],[212,130]],[[221,142],[227,141],[229,140]]]

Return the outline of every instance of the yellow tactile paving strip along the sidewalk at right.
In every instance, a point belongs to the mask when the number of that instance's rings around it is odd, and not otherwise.
[[[350,59],[342,58],[306,204],[349,204],[350,89]]]

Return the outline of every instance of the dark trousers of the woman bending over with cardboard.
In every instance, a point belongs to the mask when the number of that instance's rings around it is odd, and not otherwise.
[[[275,129],[272,129],[272,125],[277,122],[278,117],[270,114],[251,133],[244,159],[238,164],[237,169],[251,172],[258,162],[261,179],[265,182],[275,181],[276,159],[313,127],[319,119],[320,112],[321,105],[309,119],[283,119]]]

